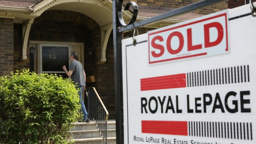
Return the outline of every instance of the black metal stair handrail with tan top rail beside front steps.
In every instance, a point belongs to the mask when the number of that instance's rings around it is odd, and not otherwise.
[[[107,144],[108,111],[94,87],[87,88],[86,92],[88,96],[88,118],[95,121],[105,144]]]

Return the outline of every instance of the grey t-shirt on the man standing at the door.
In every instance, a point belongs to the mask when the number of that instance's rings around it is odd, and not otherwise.
[[[70,63],[69,70],[73,71],[71,79],[77,83],[74,84],[76,86],[85,86],[83,65],[79,61],[75,60]]]

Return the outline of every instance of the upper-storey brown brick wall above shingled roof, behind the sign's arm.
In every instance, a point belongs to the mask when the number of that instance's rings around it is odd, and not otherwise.
[[[138,5],[153,6],[153,7],[168,7],[168,8],[181,8],[192,3],[199,2],[200,0],[124,0],[123,4],[127,2],[136,2]],[[200,10],[195,10],[197,14],[207,15],[216,11],[227,9],[227,1],[218,3]]]

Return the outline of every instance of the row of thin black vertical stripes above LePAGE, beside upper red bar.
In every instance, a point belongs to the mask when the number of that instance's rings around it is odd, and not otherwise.
[[[199,87],[249,82],[249,65],[187,73],[187,86]]]

